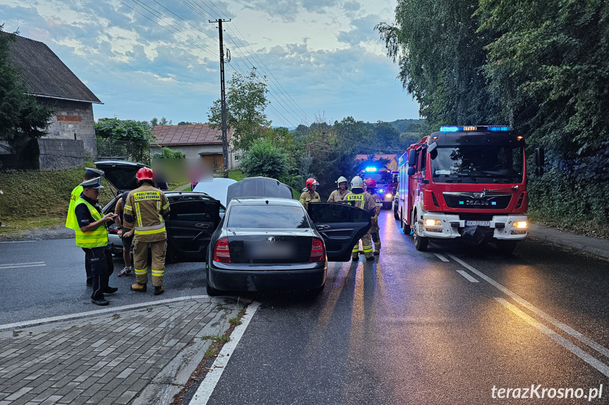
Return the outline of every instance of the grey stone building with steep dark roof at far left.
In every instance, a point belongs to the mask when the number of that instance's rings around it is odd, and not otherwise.
[[[15,35],[8,57],[28,94],[55,109],[48,135],[28,146],[28,156],[38,156],[33,166],[41,170],[68,168],[82,165],[85,154],[97,156],[92,105],[102,101],[42,42]]]

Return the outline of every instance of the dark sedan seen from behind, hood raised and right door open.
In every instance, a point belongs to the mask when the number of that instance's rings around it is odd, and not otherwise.
[[[370,215],[348,204],[305,210],[275,179],[251,177],[229,186],[227,211],[207,249],[207,294],[321,292],[327,261],[349,261]]]

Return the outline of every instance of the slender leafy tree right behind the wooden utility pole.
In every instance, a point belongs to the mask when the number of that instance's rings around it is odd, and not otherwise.
[[[247,76],[233,73],[227,91],[227,129],[232,129],[232,147],[246,151],[253,142],[262,137],[271,125],[265,108],[270,101],[266,76],[258,76],[252,68]],[[222,128],[222,102],[217,100],[207,112],[210,127]]]

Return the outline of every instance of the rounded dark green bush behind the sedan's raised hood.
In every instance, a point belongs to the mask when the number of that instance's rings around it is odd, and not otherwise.
[[[253,142],[251,148],[243,153],[241,168],[247,177],[264,176],[282,180],[288,175],[289,160],[287,154],[272,139],[260,139]]]

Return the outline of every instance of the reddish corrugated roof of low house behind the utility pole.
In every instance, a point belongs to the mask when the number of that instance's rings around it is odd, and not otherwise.
[[[209,124],[157,125],[152,133],[157,137],[155,144],[161,146],[222,144],[222,130],[214,130]],[[230,140],[232,131],[227,135]]]

